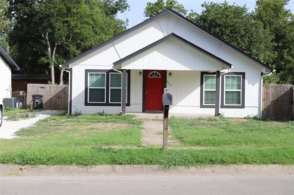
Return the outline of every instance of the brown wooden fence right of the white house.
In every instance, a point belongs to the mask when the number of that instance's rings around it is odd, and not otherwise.
[[[263,118],[291,120],[293,85],[263,84]]]

